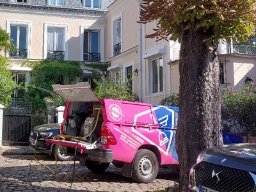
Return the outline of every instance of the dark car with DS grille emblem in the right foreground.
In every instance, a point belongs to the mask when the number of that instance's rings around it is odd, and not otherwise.
[[[256,143],[236,143],[204,150],[189,172],[189,189],[256,191]]]

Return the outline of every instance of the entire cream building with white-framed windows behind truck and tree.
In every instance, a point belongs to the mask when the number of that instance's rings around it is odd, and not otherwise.
[[[138,23],[140,3],[0,0],[0,26],[17,46],[17,51],[3,53],[12,61],[10,71],[16,83],[31,81],[31,68],[21,66],[23,61],[63,59],[110,62],[108,76],[115,79],[121,72],[123,82],[134,73],[131,88],[140,102],[158,104],[169,93],[178,92],[179,42],[145,38],[153,33],[156,22]],[[246,77],[256,81],[255,50],[255,44],[219,45],[221,87],[240,88]],[[84,76],[76,81],[92,83],[88,68],[81,68]]]

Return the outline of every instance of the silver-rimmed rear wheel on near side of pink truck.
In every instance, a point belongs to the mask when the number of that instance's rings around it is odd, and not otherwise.
[[[132,164],[132,180],[148,183],[156,179],[159,163],[156,155],[148,149],[140,149]]]

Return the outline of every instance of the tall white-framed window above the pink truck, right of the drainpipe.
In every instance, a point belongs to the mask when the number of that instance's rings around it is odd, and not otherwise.
[[[150,84],[152,93],[163,92],[163,58],[150,61]]]

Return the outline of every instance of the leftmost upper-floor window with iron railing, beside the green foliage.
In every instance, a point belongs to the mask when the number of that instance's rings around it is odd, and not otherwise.
[[[15,51],[9,52],[10,58],[28,58],[27,34],[27,26],[10,26],[10,37],[12,43],[17,47]]]

